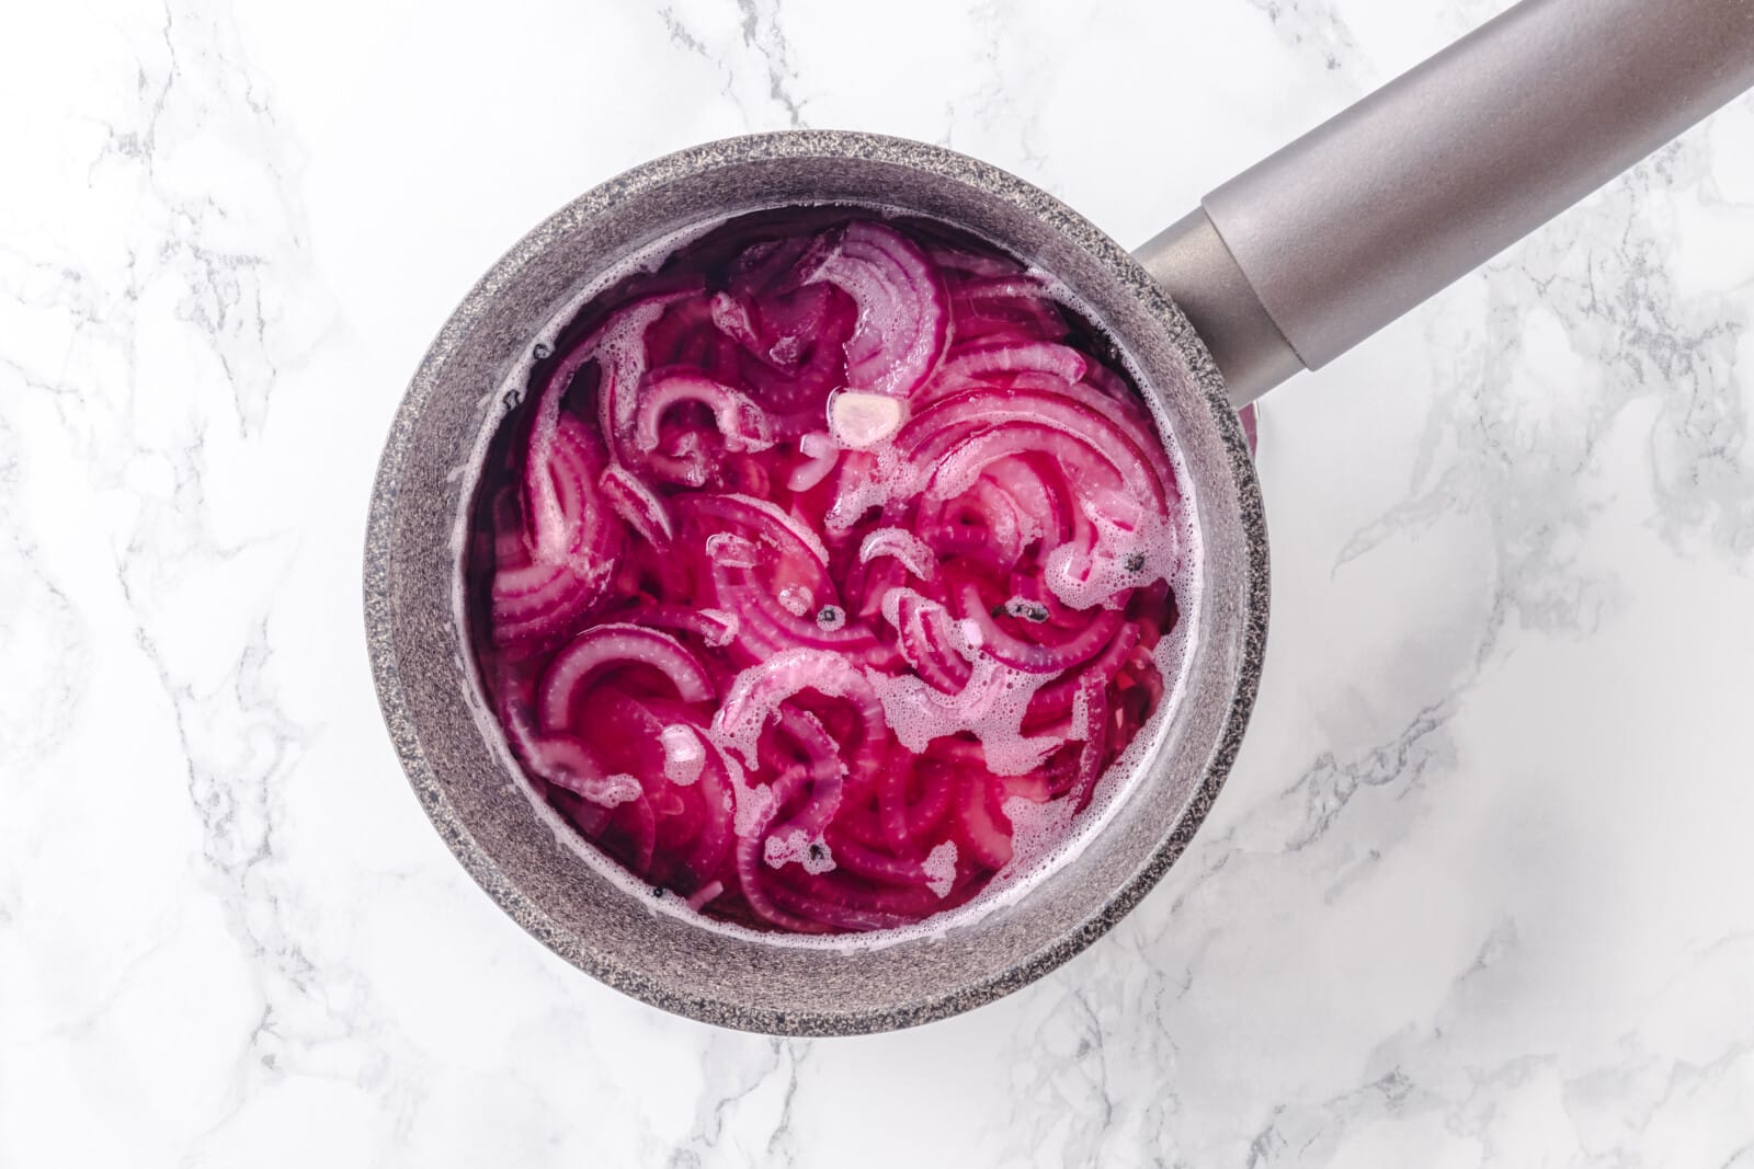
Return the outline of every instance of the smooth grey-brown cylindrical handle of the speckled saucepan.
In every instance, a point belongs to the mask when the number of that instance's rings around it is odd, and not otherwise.
[[[1754,0],[1524,0],[1217,188],[1137,254],[1242,405],[1749,86]]]

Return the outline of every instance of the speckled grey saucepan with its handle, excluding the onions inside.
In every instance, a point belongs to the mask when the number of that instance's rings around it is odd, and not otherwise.
[[[367,633],[384,719],[426,813],[544,945],[712,1024],[886,1031],[968,1010],[1065,962],[1182,852],[1249,717],[1266,636],[1266,533],[1233,407],[1347,349],[1754,82],[1750,14],[1745,0],[1529,0],[1226,184],[1138,258],[1002,170],[858,133],[716,142],[581,196],[463,298],[409,386],[379,468]],[[516,789],[456,617],[474,461],[498,421],[496,389],[531,338],[642,245],[796,202],[949,219],[1063,280],[1165,405],[1203,543],[1182,701],[1102,831],[979,920],[845,952],[702,929],[556,843]]]

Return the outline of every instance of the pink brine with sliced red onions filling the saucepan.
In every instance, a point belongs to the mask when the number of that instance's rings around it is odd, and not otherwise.
[[[909,929],[1096,813],[1182,662],[1194,543],[1112,344],[854,207],[723,223],[505,394],[465,550],[531,790],[717,922]]]

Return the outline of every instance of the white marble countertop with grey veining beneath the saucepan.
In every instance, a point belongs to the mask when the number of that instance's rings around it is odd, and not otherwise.
[[[1273,631],[1114,934],[868,1039],[661,1015],[412,799],[360,547],[468,284],[696,140],[1138,244],[1496,0],[0,19],[0,1164],[1754,1167],[1754,102],[1275,393]]]

